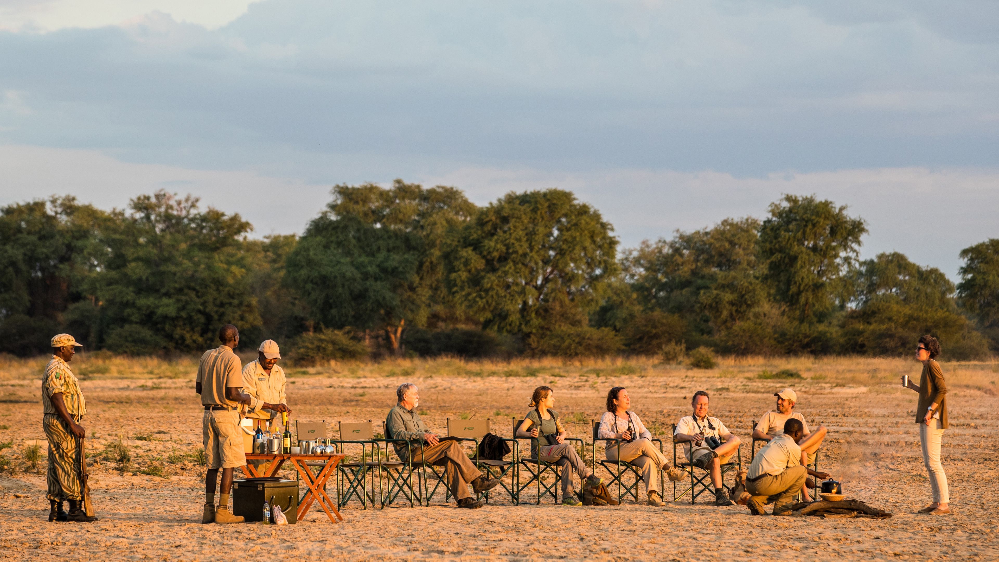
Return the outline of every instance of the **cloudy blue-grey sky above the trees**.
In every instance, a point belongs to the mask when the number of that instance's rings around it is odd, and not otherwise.
[[[573,191],[622,247],[815,194],[957,280],[999,237],[999,2],[0,0],[0,205]]]

